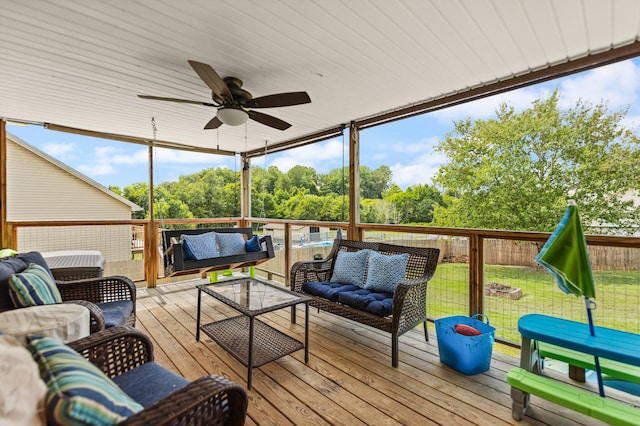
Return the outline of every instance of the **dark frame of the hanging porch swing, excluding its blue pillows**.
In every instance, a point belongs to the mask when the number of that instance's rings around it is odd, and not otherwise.
[[[205,259],[189,259],[186,256],[182,235],[202,235],[210,232],[242,234],[245,241],[253,237],[251,228],[198,228],[162,231],[162,247],[165,276],[193,273],[194,271],[219,271],[248,266],[255,266],[275,257],[271,236],[259,238],[260,251],[244,252],[229,256],[210,257]]]

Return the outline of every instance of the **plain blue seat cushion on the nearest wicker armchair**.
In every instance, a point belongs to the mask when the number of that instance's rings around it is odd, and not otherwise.
[[[113,379],[138,404],[148,407],[186,385],[189,381],[157,362],[147,362]]]

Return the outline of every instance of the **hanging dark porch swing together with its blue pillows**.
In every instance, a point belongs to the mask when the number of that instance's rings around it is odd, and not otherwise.
[[[162,253],[165,277],[200,273],[204,278],[212,271],[248,268],[275,257],[271,236],[254,238],[251,228],[166,229]]]

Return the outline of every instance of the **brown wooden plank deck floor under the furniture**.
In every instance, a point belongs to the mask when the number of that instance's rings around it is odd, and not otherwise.
[[[136,327],[155,344],[156,360],[195,379],[219,374],[246,386],[246,368],[208,336],[195,340],[197,290],[191,281],[138,289]],[[303,308],[298,308],[303,312]],[[237,313],[203,297],[203,322]],[[303,339],[303,321],[289,309],[261,317]],[[517,359],[494,351],[491,369],[464,376],[440,363],[436,336],[419,328],[400,338],[400,366],[391,367],[387,333],[311,309],[309,362],[303,351],[253,372],[249,425],[596,425],[593,419],[532,397],[528,416],[511,417],[506,373]]]

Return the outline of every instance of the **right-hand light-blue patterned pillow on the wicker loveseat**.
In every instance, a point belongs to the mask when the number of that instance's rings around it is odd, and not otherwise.
[[[369,255],[369,269],[364,288],[393,293],[396,286],[405,279],[408,259],[408,253],[390,256],[372,251]]]

